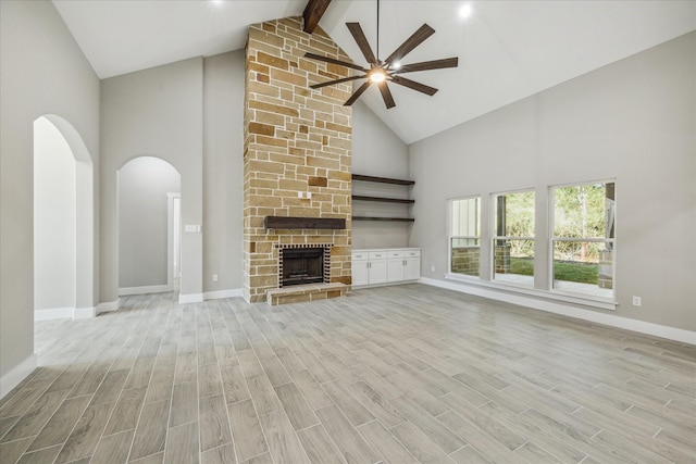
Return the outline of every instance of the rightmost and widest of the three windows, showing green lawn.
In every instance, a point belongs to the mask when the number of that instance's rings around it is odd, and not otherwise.
[[[551,188],[554,289],[613,297],[613,181]]]

